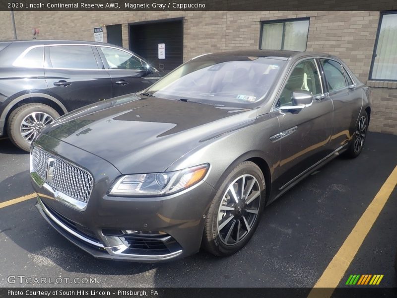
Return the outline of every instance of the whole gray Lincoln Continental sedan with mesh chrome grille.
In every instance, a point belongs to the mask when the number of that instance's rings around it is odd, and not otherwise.
[[[266,205],[332,157],[360,154],[369,97],[323,53],[199,56],[46,127],[30,151],[36,206],[98,258],[228,256]]]

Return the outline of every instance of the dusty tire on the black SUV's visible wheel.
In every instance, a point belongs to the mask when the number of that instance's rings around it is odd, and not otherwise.
[[[53,120],[60,117],[56,110],[42,103],[28,103],[13,110],[8,117],[7,134],[11,142],[16,147],[25,151],[30,150],[31,141],[29,143],[29,141],[25,140],[25,138],[22,136],[21,125],[22,121],[33,112],[45,113],[49,115]],[[51,122],[52,121],[47,122],[46,120],[46,124],[49,124]]]

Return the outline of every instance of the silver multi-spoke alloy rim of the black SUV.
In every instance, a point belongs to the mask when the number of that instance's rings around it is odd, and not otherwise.
[[[21,123],[21,135],[29,144],[41,132],[47,124],[54,121],[54,118],[44,112],[33,112],[27,115]]]

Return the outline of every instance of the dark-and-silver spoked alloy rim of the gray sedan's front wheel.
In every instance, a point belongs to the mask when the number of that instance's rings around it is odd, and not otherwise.
[[[252,175],[242,175],[229,184],[218,210],[217,231],[226,245],[235,245],[250,232],[257,220],[261,189]]]

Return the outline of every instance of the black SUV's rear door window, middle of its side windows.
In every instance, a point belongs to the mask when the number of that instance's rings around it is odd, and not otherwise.
[[[53,68],[58,69],[98,69],[91,46],[50,46],[49,59]]]

